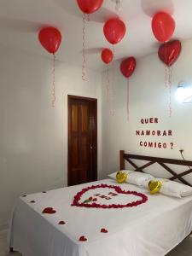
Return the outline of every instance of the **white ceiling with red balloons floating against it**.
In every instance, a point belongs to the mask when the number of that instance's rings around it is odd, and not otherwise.
[[[90,15],[86,23],[86,67],[101,70],[102,48],[111,47],[103,36],[105,20],[113,16],[125,21],[125,38],[115,45],[115,59],[129,55],[136,58],[158,49],[151,31],[151,17],[164,10],[176,20],[174,38],[192,38],[191,0],[122,0],[122,9],[115,11],[113,0],[104,0],[102,9]],[[38,43],[43,26],[55,26],[62,33],[57,59],[81,66],[83,14],[76,0],[0,0],[0,44],[24,49],[32,54],[50,56]]]

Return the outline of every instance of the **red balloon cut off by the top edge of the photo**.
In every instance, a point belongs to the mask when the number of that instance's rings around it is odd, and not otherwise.
[[[102,7],[103,0],[77,0],[79,9],[84,14],[90,15]]]

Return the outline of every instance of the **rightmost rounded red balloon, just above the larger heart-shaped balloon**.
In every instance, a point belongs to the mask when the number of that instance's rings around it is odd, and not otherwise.
[[[172,38],[175,30],[175,20],[166,13],[157,13],[152,20],[152,30],[154,37],[161,43],[166,43]]]

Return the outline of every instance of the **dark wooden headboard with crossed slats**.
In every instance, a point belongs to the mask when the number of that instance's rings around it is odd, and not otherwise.
[[[177,174],[169,166],[166,166],[166,164],[172,164],[176,166],[192,166],[192,161],[175,160],[175,159],[137,155],[137,154],[125,154],[124,150],[120,150],[120,170],[125,170],[125,160],[127,160],[131,164],[131,166],[135,168],[135,171],[137,172],[143,172],[143,170],[148,166],[152,166],[155,163],[157,163],[160,166],[162,166],[167,172],[172,174],[172,177],[170,177],[170,180],[178,179],[182,183],[192,187],[192,185],[183,178],[185,175],[192,173],[191,168],[189,168],[189,170],[185,172]],[[132,160],[146,160],[148,162],[145,165],[138,167]]]

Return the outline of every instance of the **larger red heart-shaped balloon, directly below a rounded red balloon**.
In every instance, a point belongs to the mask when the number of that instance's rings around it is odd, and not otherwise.
[[[177,61],[177,58],[181,53],[181,49],[181,42],[178,40],[173,40],[166,44],[161,44],[158,55],[160,60],[163,61],[166,66],[171,67],[172,64]]]

